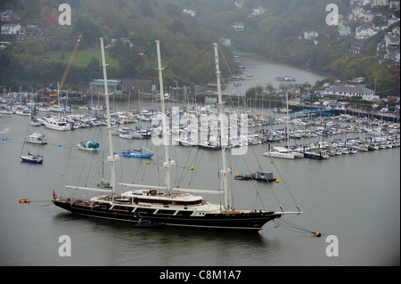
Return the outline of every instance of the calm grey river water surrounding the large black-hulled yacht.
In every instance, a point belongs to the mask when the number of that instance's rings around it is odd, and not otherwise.
[[[251,69],[252,64],[245,65],[255,77],[270,72],[272,66],[259,61],[255,63],[258,68]],[[266,71],[259,71],[262,67]],[[299,78],[305,73],[287,68],[282,76]],[[314,76],[309,82],[319,77]],[[323,161],[275,159],[274,165],[262,156],[265,145],[250,146],[245,155],[229,155],[235,207],[279,210],[280,203],[285,211],[297,211],[297,204],[304,214],[289,215],[285,220],[320,231],[320,238],[272,222],[255,235],[176,228],[138,230],[129,223],[72,215],[51,203],[53,191],[68,194],[62,190],[66,183],[94,187],[101,178],[102,154],[77,150],[75,144],[95,140],[105,145],[104,129],[58,132],[30,126],[29,133],[39,130],[49,143],[38,147],[45,155],[44,164],[29,165],[20,162],[28,122],[29,117],[17,115],[0,118],[1,265],[399,265],[400,148]],[[140,146],[155,152],[149,165],[145,160],[121,158],[116,166],[119,182],[163,183],[164,172],[157,165],[164,158],[160,147],[118,136],[113,136],[113,143],[118,153]],[[215,151],[171,146],[170,157],[178,164],[172,173],[174,183],[184,188],[218,189],[216,156]],[[233,179],[234,174],[254,172],[259,165],[272,171],[280,183],[255,185]],[[82,197],[88,197],[88,192]],[[20,199],[31,202],[20,204]],[[205,199],[220,202],[214,195]],[[70,239],[70,256],[59,254],[65,244],[62,236]]]

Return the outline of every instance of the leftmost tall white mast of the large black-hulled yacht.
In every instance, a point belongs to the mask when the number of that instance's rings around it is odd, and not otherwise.
[[[103,38],[100,38],[101,48],[102,48],[102,67],[103,67],[103,80],[104,80],[104,97],[106,100],[106,118],[107,118],[107,134],[109,137],[109,150],[110,156],[107,158],[107,161],[110,163],[111,169],[111,181],[110,186],[112,188],[113,195],[116,193],[116,173],[114,171],[114,162],[116,161],[116,157],[113,154],[113,143],[111,139],[111,122],[110,122],[110,103],[109,103],[109,87],[107,85],[107,71],[106,71],[106,59],[104,56],[104,46],[103,46]]]

